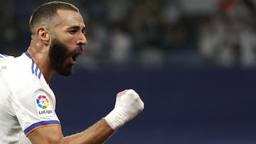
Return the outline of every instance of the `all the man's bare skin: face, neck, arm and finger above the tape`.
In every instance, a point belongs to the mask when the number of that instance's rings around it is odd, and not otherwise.
[[[53,22],[55,23],[53,26],[40,26],[36,29],[36,33],[32,35],[31,45],[28,48],[28,52],[33,57],[34,62],[36,62],[36,65],[43,73],[47,82],[50,81],[50,78],[55,73],[48,57],[51,40],[53,38],[58,38],[60,42],[65,43],[68,51],[74,55],[80,55],[80,53],[82,53],[80,46],[87,43],[84,35],[85,24],[80,13],[59,10],[58,14],[60,18],[57,18],[57,20]],[[72,57],[73,55],[70,55],[70,57],[64,60],[63,67],[75,64]],[[122,94],[126,92],[127,90],[119,92],[117,96],[122,96]],[[31,140],[33,144],[96,144],[103,143],[113,133],[114,130],[112,130],[105,119],[102,118],[85,131],[68,137],[63,137],[60,125],[53,125],[36,129],[28,135],[28,139]]]

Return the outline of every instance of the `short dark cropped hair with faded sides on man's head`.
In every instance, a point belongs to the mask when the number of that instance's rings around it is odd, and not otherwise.
[[[58,10],[68,10],[79,12],[79,9],[75,7],[73,4],[69,4],[63,1],[51,1],[39,6],[31,15],[29,20],[29,28],[31,34],[35,33],[35,26],[40,23],[50,23],[52,18],[58,16]]]

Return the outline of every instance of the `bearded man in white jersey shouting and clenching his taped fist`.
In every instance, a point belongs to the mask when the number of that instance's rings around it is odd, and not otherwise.
[[[0,143],[103,143],[144,109],[132,89],[117,94],[114,109],[81,133],[63,137],[48,86],[55,72],[69,76],[87,43],[72,4],[53,1],[34,11],[31,44],[19,57],[0,55]]]

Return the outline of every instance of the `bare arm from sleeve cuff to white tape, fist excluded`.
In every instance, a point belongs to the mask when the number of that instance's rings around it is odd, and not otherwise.
[[[87,130],[77,133],[75,135],[70,135],[63,137],[60,125],[47,126],[43,128],[38,128],[28,135],[29,140],[36,144],[46,144],[46,143],[103,143],[107,138],[114,133],[114,130],[110,128],[104,118],[97,121],[94,125]]]

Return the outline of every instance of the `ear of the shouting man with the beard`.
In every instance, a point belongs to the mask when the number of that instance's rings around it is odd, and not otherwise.
[[[36,31],[39,40],[48,45],[50,43],[50,31],[46,27],[40,27]]]

